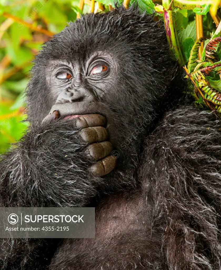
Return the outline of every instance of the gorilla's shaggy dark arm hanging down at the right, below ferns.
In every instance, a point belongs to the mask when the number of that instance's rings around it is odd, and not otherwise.
[[[164,217],[170,269],[220,268],[220,130],[213,113],[185,106],[167,113],[148,142],[144,191]]]

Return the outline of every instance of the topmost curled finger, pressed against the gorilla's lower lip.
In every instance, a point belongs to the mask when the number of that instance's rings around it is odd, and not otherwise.
[[[106,119],[100,114],[85,114],[75,118],[75,127],[85,129],[87,127],[99,127],[106,124]]]

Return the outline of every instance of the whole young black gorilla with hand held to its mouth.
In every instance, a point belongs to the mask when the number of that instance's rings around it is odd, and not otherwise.
[[[96,238],[2,239],[1,269],[221,269],[221,122],[188,104],[163,116],[181,87],[164,29],[136,8],[87,14],[32,73],[0,205],[96,206]]]

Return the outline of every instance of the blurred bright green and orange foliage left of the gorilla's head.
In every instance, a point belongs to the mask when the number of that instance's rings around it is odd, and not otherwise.
[[[90,1],[88,1],[90,2]],[[24,90],[43,42],[77,16],[79,1],[0,1],[0,153],[26,130]],[[88,12],[90,5],[84,5]]]

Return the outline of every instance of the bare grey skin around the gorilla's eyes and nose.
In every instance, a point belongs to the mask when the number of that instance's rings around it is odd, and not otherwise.
[[[86,59],[76,55],[70,62],[52,60],[45,72],[47,87],[55,103],[86,103],[90,100],[93,104],[112,95],[120,70],[113,55],[96,52]]]

